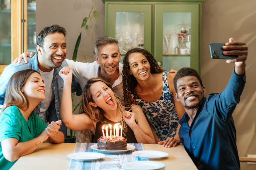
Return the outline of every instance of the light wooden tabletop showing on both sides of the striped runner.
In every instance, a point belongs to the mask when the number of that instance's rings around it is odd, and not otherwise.
[[[11,169],[68,169],[75,143],[42,143],[33,153],[22,156]],[[165,164],[165,169],[197,169],[182,145],[165,148],[159,144],[144,144],[145,150],[158,150],[168,153],[167,157],[158,160]]]

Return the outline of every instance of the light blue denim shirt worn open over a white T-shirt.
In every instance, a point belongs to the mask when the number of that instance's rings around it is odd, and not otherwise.
[[[37,60],[37,54],[35,54],[32,58],[27,58],[28,63],[24,63],[24,60],[22,60],[21,64],[10,64],[8,65],[5,70],[3,71],[2,75],[0,76],[0,104],[4,104],[5,102],[5,96],[6,96],[6,89],[7,84],[9,82],[9,79],[11,76],[21,70],[26,69],[33,69],[36,70],[39,74],[39,68],[38,68],[38,60]],[[53,79],[52,79],[52,88],[54,93],[54,100],[52,100],[49,108],[48,108],[48,121],[57,121],[60,120],[60,103],[61,103],[61,97],[62,97],[62,91],[63,91],[63,79],[59,76],[59,71],[64,67],[67,66],[67,62],[63,61],[61,66],[59,68],[54,68],[53,73]],[[72,77],[72,85],[71,85],[71,91],[76,92],[76,95],[79,96],[82,94],[82,89],[74,76]],[[41,102],[37,105],[35,108],[35,113],[39,116],[41,107]],[[66,126],[64,123],[61,123],[60,129],[61,132],[65,135]]]

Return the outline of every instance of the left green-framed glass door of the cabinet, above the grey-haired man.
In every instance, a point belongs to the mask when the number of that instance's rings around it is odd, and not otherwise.
[[[118,40],[122,56],[136,47],[151,52],[151,7],[107,4],[105,35]]]

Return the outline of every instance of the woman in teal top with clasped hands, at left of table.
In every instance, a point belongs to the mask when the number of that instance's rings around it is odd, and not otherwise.
[[[6,107],[0,114],[0,167],[10,169],[23,155],[41,143],[64,141],[58,131],[61,120],[47,124],[34,112],[45,99],[45,84],[35,70],[19,71],[11,77],[6,91]]]

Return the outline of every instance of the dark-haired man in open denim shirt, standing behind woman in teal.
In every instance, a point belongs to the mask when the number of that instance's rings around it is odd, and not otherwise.
[[[66,61],[66,30],[58,25],[46,27],[37,36],[37,54],[28,59],[28,64],[10,64],[0,77],[0,105],[4,104],[5,93],[11,76],[21,70],[33,69],[38,71],[46,84],[46,99],[35,108],[35,113],[45,122],[60,120],[60,103],[63,90],[63,80],[59,71],[67,66]],[[72,92],[81,95],[80,85],[72,78]],[[60,131],[65,134],[66,126],[60,126]]]

